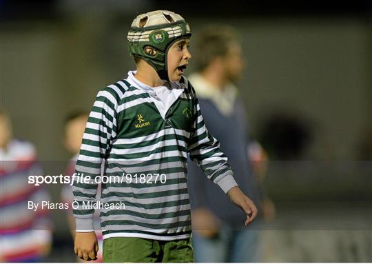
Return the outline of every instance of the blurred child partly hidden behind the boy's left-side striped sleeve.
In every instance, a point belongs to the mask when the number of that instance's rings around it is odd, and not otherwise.
[[[65,148],[74,156],[70,160],[68,167],[65,170],[65,175],[72,175],[75,172],[76,160],[79,156],[79,150],[81,147],[81,141],[83,140],[83,134],[85,130],[85,125],[87,124],[87,119],[89,117],[89,112],[73,112],[65,120],[65,138],[64,145]],[[100,191],[97,191],[96,199],[99,199],[101,195]],[[72,187],[70,185],[63,185],[61,193],[62,203],[68,203],[70,209],[72,209],[72,201],[74,196],[72,195]],[[72,232],[72,237],[75,236],[75,221],[74,216],[72,215],[72,210],[68,212],[68,223]],[[94,232],[96,233],[97,240],[99,243],[99,252],[97,253],[97,259],[92,262],[102,262],[102,243],[103,236],[99,222],[99,209],[96,210],[94,214]],[[85,262],[81,258],[77,258],[79,262]]]

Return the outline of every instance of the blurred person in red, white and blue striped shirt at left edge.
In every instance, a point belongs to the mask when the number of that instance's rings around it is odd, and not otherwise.
[[[0,112],[0,261],[40,262],[50,252],[48,210],[28,209],[28,201],[50,201],[45,187],[28,183],[29,175],[42,175],[32,143],[13,138],[8,114]]]

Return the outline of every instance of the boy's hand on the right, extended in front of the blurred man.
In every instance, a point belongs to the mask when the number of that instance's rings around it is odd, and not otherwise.
[[[232,202],[241,207],[245,214],[247,214],[245,225],[248,225],[254,220],[257,215],[256,205],[254,205],[254,202],[242,193],[238,186],[232,187],[229,192],[227,192],[227,195]]]

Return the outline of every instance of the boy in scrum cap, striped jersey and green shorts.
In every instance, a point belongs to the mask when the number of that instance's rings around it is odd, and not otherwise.
[[[98,250],[94,210],[86,207],[95,201],[97,183],[84,180],[99,179],[103,162],[103,261],[194,260],[187,153],[242,207],[246,225],[257,214],[207,132],[194,89],[182,76],[191,59],[190,37],[189,25],[174,12],[147,12],[132,23],[128,42],[137,70],[97,95],[76,162],[74,250],[80,258],[94,259]]]

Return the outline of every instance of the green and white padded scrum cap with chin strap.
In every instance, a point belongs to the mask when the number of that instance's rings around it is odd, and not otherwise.
[[[169,81],[168,49],[174,42],[189,38],[191,34],[189,24],[179,14],[156,10],[138,15],[132,22],[127,39],[130,54],[147,61],[161,79]]]

